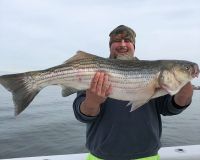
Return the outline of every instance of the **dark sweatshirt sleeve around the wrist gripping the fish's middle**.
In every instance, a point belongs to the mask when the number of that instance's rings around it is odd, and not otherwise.
[[[83,123],[90,123],[96,119],[97,116],[87,116],[80,111],[81,103],[85,100],[85,91],[80,91],[77,93],[77,97],[75,98],[73,102],[73,110],[74,115],[77,120]]]

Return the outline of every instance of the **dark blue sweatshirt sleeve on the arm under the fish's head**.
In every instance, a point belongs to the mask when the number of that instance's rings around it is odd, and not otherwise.
[[[174,101],[174,96],[165,95],[155,99],[157,110],[164,116],[177,115],[183,112],[187,106],[179,106]]]

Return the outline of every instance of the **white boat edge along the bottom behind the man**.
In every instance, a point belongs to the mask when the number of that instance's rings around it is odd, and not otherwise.
[[[200,160],[200,145],[163,147],[159,150],[161,160]],[[85,160],[87,153],[11,158],[1,160]]]

